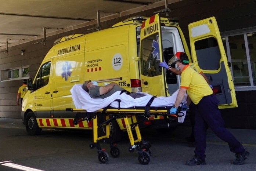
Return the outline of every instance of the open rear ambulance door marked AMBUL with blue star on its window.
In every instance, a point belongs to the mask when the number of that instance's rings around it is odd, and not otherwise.
[[[140,33],[140,72],[143,92],[166,96],[166,83],[162,67],[162,38],[159,14],[156,14],[141,26]]]

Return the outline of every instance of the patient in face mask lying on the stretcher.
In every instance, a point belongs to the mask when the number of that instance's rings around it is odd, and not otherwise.
[[[116,91],[126,91],[124,88],[118,86],[117,83],[110,83],[106,86],[98,86],[96,81],[85,81],[83,83],[82,88],[89,93],[91,98],[101,98],[104,99],[106,97],[111,96]],[[140,98],[145,96],[144,94],[136,93],[136,92],[125,92],[126,94],[129,94],[134,99]]]

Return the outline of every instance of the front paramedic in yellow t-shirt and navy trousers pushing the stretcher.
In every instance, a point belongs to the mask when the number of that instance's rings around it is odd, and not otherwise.
[[[175,63],[181,71],[180,90],[176,101],[170,109],[170,114],[175,114],[181,99],[183,99],[186,91],[188,94],[188,105],[190,100],[195,103],[195,155],[191,160],[187,161],[187,165],[204,165],[205,149],[206,149],[206,131],[210,127],[214,134],[223,141],[228,143],[230,151],[235,153],[236,159],[233,164],[243,164],[249,156],[242,144],[224,128],[224,121],[218,108],[219,101],[213,95],[212,89],[209,87],[205,79],[187,64],[187,55],[180,55]]]

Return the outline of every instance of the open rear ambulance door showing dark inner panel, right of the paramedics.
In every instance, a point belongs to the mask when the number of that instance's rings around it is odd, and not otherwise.
[[[235,88],[215,17],[188,25],[192,60],[206,74],[219,108],[237,107]]]

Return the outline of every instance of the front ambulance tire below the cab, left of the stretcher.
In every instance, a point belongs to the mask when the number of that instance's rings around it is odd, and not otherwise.
[[[35,114],[30,111],[26,116],[26,131],[29,135],[38,135],[41,133],[42,128],[39,128]]]

